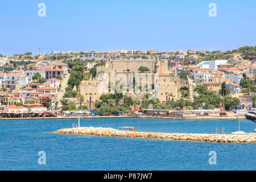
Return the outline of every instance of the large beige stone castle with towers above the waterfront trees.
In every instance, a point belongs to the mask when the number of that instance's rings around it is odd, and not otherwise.
[[[141,73],[138,71],[139,67],[147,67],[148,71]],[[80,93],[84,96],[85,102],[88,102],[90,98],[94,102],[99,100],[101,94],[114,93],[115,86],[112,85],[122,82],[127,86],[123,94],[133,99],[142,100],[144,94],[150,93],[163,103],[166,102],[166,93],[168,93],[177,100],[181,96],[179,93],[181,87],[189,90],[192,96],[191,80],[188,78],[187,81],[183,81],[173,75],[176,73],[168,68],[167,59],[108,59],[104,66],[97,67],[96,78],[91,77],[89,81],[81,81]],[[134,82],[133,76],[137,78],[135,82],[144,90],[129,90],[129,85],[133,85]]]

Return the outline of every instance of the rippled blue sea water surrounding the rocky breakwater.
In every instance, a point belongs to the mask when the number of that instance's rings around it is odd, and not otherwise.
[[[0,170],[256,170],[256,144],[203,143],[179,140],[53,134],[77,119],[0,121]],[[148,118],[80,119],[81,126],[134,126],[135,131],[162,133],[225,133],[238,130],[237,120],[175,120]],[[240,122],[254,132],[256,123]],[[38,152],[46,152],[46,165]],[[217,164],[210,165],[209,151]]]

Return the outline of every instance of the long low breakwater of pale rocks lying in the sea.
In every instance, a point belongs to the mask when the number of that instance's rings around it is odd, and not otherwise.
[[[103,127],[78,127],[55,131],[59,134],[97,135],[106,137],[133,137],[151,139],[191,140],[220,143],[256,143],[256,134],[185,134],[185,133],[149,133],[137,131],[119,131]]]

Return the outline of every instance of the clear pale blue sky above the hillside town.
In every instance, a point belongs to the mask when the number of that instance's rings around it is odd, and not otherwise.
[[[46,17],[38,4],[46,4]],[[209,3],[217,17],[209,17]],[[0,2],[0,53],[234,49],[256,45],[255,0],[9,0]]]

